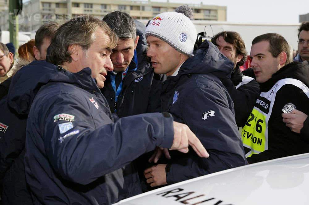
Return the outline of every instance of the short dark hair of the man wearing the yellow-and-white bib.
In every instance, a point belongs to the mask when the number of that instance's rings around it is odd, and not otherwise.
[[[252,45],[259,43],[261,41],[268,41],[269,47],[268,51],[272,54],[274,58],[278,57],[282,51],[286,52],[286,64],[291,62],[290,60],[290,47],[288,42],[282,35],[276,33],[267,33],[255,37],[252,41]]]

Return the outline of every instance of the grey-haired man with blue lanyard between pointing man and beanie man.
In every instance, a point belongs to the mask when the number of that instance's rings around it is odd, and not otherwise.
[[[114,11],[103,20],[118,35],[112,50],[114,70],[108,72],[101,89],[118,117],[160,111],[164,74],[155,74],[146,56],[146,27],[129,14]]]

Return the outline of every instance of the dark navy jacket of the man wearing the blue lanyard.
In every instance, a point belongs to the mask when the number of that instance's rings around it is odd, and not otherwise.
[[[146,56],[147,41],[145,37],[146,27],[136,21],[136,35],[139,35],[136,47],[138,62],[133,59],[129,65],[138,68],[135,71],[128,70],[122,81],[121,93],[118,96],[116,113],[118,117],[152,113],[160,111],[160,92],[165,75],[154,73],[152,64]],[[101,89],[111,108],[115,107],[115,92],[112,88],[110,72],[106,76],[105,86]]]

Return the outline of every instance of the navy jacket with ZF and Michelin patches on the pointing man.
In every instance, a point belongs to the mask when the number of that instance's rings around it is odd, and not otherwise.
[[[8,102],[29,113],[25,170],[35,204],[111,204],[139,194],[130,162],[173,141],[169,115],[114,123],[89,68],[70,73],[34,61],[14,76]]]

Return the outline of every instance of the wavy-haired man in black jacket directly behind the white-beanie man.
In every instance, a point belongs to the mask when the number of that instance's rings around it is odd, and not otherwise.
[[[222,31],[214,35],[212,42],[219,51],[234,63],[230,79],[221,79],[231,95],[235,109],[235,120],[238,127],[246,124],[260,95],[260,86],[255,79],[243,76],[239,70],[246,61],[247,51],[243,39],[234,31]]]

